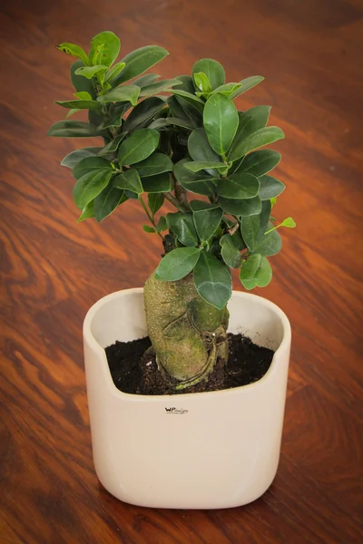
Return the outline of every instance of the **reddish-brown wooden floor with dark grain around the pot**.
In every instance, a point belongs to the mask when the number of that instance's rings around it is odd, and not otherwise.
[[[358,544],[362,535],[362,12],[360,0],[11,0],[0,8],[0,543]],[[81,326],[99,297],[142,286],[157,239],[127,204],[77,225],[58,166],[83,141],[47,139],[72,96],[71,60],[109,29],[123,54],[161,44],[165,77],[210,56],[229,81],[266,81],[240,109],[272,106],[292,215],[261,295],[289,315],[293,347],[280,468],[231,510],[148,510],[93,471]],[[360,110],[360,111],[359,111]],[[89,143],[89,141],[87,141]],[[240,286],[236,282],[236,288]],[[359,481],[360,479],[360,481]],[[192,492],[192,491],[191,491]]]

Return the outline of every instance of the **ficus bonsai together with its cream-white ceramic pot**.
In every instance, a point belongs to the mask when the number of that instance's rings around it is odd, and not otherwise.
[[[59,49],[78,57],[75,92],[56,102],[69,112],[49,135],[102,141],[62,161],[74,175],[78,220],[102,221],[135,199],[149,220],[144,231],[162,242],[162,260],[143,290],[103,297],[84,320],[98,477],[114,496],[142,506],[223,508],[255,500],[277,471],[290,329],[279,307],[232,292],[231,268],[246,290],[267,286],[268,257],[281,248],[278,229],[295,226],[271,217],[285,188],[270,176],[280,153],[260,149],[284,134],[266,126],[269,106],[242,112],[233,102],[263,78],[225,83],[221,64],[201,59],[191,75],[161,80],[144,72],[167,51],[151,45],[116,62],[120,41],[111,32],[96,35],[89,54],[74,44]],[[88,121],[68,119],[83,111]],[[174,211],[161,215],[165,200]],[[260,380],[211,391],[211,375],[229,361],[228,331],[274,354]],[[113,382],[105,348],[147,335],[152,372],[167,394],[125,393]],[[146,353],[152,358],[150,348]],[[195,393],[206,384],[208,392]]]

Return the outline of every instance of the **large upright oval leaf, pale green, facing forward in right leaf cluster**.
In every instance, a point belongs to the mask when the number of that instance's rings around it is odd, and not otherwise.
[[[239,126],[236,106],[224,94],[211,94],[204,107],[203,123],[212,150],[224,156]]]

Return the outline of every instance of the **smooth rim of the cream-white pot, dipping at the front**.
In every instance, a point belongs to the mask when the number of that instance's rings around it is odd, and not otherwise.
[[[103,359],[104,370],[106,371],[104,373],[104,378],[105,378],[105,383],[107,384],[107,388],[109,390],[109,394],[119,397],[120,400],[127,399],[129,401],[132,400],[132,402],[145,403],[145,401],[148,401],[148,402],[152,401],[152,402],[164,403],[165,399],[173,399],[180,395],[177,395],[177,394],[142,395],[142,394],[135,394],[135,393],[123,393],[123,391],[120,391],[119,389],[117,389],[115,384],[113,384],[113,378],[107,363],[107,358],[106,358],[106,353],[104,351],[104,348],[94,338],[92,329],[91,329],[93,317],[96,315],[98,310],[103,305],[105,305],[111,298],[123,296],[123,294],[126,294],[126,293],[132,295],[132,294],[140,294],[142,292],[143,292],[142,287],[132,287],[129,289],[120,289],[119,291],[115,291],[113,293],[110,293],[109,295],[106,295],[100,298],[97,302],[93,304],[93,306],[90,307],[86,316],[84,317],[83,336],[87,339],[87,342],[92,347],[94,352],[97,353],[101,359]],[[238,297],[238,298],[255,299],[255,301],[258,304],[269,307],[270,310],[272,310],[277,316],[280,317],[282,328],[283,328],[283,336],[282,336],[282,341],[280,343],[280,346],[278,347],[278,349],[273,355],[270,368],[267,371],[267,373],[264,374],[262,378],[260,378],[260,380],[252,384],[240,385],[240,387],[233,387],[231,389],[222,389],[220,391],[207,391],[203,393],[182,393],[183,402],[190,399],[196,399],[197,397],[200,397],[201,395],[203,395],[203,398],[204,398],[204,397],[207,397],[207,395],[221,396],[221,395],[228,395],[228,394],[238,394],[240,393],[241,389],[247,392],[247,391],[250,391],[251,389],[257,389],[259,387],[263,387],[263,385],[269,380],[270,375],[274,372],[275,367],[278,364],[280,353],[286,350],[289,350],[289,345],[291,343],[291,326],[289,324],[288,316],[286,316],[286,314],[280,309],[279,306],[277,306],[273,302],[270,302],[270,300],[268,300],[267,298],[264,298],[263,296],[254,295],[252,293],[245,293],[243,291],[232,291],[232,296]]]

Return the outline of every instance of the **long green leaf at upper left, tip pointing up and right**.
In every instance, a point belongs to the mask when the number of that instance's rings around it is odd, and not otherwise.
[[[158,45],[146,45],[146,47],[140,47],[140,49],[128,53],[122,59],[122,62],[126,63],[126,67],[122,73],[114,78],[113,87],[144,73],[154,64],[162,61],[168,54],[166,49]]]

